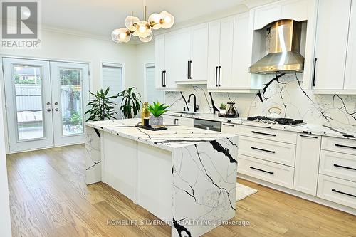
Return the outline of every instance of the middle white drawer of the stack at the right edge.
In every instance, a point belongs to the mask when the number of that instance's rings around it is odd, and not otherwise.
[[[351,154],[322,150],[319,173],[356,182],[356,157]]]

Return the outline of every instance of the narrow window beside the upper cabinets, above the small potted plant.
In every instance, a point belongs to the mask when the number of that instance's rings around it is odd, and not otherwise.
[[[164,102],[164,92],[156,90],[155,63],[145,65],[145,102]]]

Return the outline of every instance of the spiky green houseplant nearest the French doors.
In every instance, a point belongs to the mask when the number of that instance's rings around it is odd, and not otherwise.
[[[94,99],[88,102],[90,109],[85,112],[85,115],[89,114],[90,117],[87,121],[115,119],[114,115],[117,115],[117,112],[114,109],[114,105],[116,105],[116,103],[110,100],[117,98],[117,95],[108,96],[109,90],[110,88],[106,88],[105,91],[101,89],[100,91],[98,90],[96,94],[89,92],[94,96]]]

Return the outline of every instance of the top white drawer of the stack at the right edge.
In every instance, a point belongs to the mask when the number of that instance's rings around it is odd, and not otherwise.
[[[356,140],[336,137],[323,137],[321,142],[321,149],[356,155]]]

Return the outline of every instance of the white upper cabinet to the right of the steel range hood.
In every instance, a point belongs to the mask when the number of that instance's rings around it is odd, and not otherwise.
[[[354,0],[318,1],[314,93],[356,93],[352,92],[356,90],[355,4]]]

